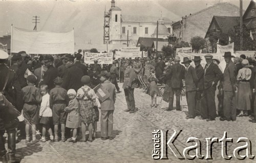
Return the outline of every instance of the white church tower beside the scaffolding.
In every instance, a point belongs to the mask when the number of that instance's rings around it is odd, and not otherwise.
[[[115,5],[115,0],[111,1],[110,13],[110,44],[118,44],[115,40],[121,38],[121,9]]]

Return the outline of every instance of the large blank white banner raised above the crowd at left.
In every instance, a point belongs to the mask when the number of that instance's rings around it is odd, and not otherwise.
[[[74,53],[74,30],[69,32],[32,31],[12,28],[11,52],[30,54]]]

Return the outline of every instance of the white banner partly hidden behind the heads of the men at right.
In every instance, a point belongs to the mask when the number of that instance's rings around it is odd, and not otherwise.
[[[205,61],[205,58],[204,58],[205,55],[207,55],[207,54],[206,53],[179,53],[179,55],[177,55],[177,56],[180,57],[180,63],[183,62],[184,57],[187,57],[187,58],[189,58],[189,60],[192,61],[195,58],[195,56],[200,56],[201,59],[202,59],[201,65],[204,68],[205,65],[206,65],[206,61]],[[226,67],[226,62],[224,60],[224,57],[222,57],[223,54],[211,53],[211,55],[214,56],[214,59],[218,59],[220,61],[219,65],[221,66],[222,72],[223,72],[225,67]],[[236,57],[236,55],[233,55],[233,56]],[[191,62],[190,65],[193,66],[193,67],[196,67],[194,62]]]

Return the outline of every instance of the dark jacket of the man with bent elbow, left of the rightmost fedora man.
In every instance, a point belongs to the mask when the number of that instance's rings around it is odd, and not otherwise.
[[[204,67],[204,70],[206,68],[206,65]],[[219,69],[218,65],[211,62],[204,73],[204,89],[210,88],[212,85],[212,82],[214,82],[215,86],[217,86],[221,77],[222,77],[222,72]]]

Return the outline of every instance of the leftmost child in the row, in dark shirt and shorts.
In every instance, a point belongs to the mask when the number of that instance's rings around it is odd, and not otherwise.
[[[25,122],[27,122],[25,131],[26,131],[26,143],[30,142],[29,129],[30,124],[32,126],[32,143],[38,142],[36,140],[36,124],[38,124],[38,112],[39,105],[41,103],[41,94],[40,90],[34,85],[36,83],[36,78],[34,75],[28,75],[27,84],[28,86],[22,89],[23,93],[23,115]]]

